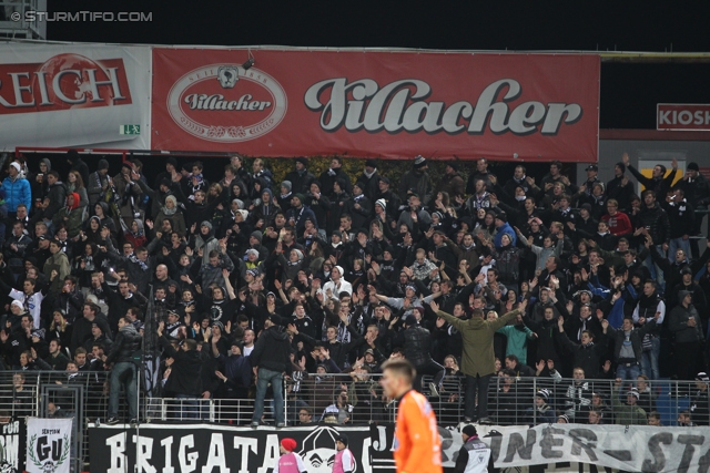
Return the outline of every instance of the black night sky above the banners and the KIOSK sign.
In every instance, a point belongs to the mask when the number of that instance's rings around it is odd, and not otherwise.
[[[156,44],[710,51],[710,2],[52,0],[151,23],[49,23],[48,38]],[[100,6],[100,8],[98,7]],[[307,6],[307,7],[304,7]],[[710,103],[710,63],[602,63],[601,127],[653,128],[656,103]]]

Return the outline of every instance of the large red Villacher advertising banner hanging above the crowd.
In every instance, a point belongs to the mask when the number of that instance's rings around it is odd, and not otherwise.
[[[599,58],[153,49],[152,148],[596,162]]]

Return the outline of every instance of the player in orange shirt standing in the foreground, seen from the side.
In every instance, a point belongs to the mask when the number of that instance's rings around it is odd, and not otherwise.
[[[442,473],[442,441],[429,401],[412,388],[414,366],[404,359],[383,364],[385,395],[399,402],[395,430],[397,473]]]

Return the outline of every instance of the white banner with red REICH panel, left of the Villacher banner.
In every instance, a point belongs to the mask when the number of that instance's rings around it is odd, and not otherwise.
[[[2,44],[2,151],[150,150],[151,61],[148,47]]]

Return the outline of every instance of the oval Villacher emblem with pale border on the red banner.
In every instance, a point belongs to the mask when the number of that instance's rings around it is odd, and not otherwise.
[[[180,78],[168,93],[168,111],[187,133],[237,143],[263,136],[286,115],[286,92],[267,73],[240,64],[211,64]]]

